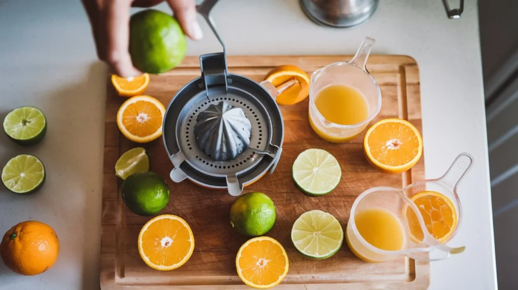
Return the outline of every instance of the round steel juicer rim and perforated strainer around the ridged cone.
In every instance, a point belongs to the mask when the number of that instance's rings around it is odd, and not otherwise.
[[[189,178],[199,185],[226,188],[230,194],[238,195],[244,185],[275,169],[282,151],[284,126],[279,107],[265,88],[241,75],[227,77],[227,90],[223,85],[211,86],[208,94],[201,77],[180,89],[166,110],[163,141],[174,165],[171,180]],[[249,147],[235,159],[215,161],[196,144],[194,126],[204,108],[221,101],[244,112],[251,123],[251,135]]]

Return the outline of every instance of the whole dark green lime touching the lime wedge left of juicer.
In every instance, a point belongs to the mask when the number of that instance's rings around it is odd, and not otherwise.
[[[169,188],[158,174],[137,172],[122,182],[122,200],[139,216],[152,216],[169,202]]]

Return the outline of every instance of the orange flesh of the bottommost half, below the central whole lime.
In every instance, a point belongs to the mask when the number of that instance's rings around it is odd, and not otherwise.
[[[269,240],[249,243],[238,260],[244,279],[255,285],[270,285],[279,281],[286,269],[282,249]]]

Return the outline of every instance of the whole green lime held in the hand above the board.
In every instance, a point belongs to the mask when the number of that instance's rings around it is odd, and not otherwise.
[[[133,65],[147,73],[175,68],[185,57],[186,40],[178,21],[162,11],[147,9],[130,20]]]

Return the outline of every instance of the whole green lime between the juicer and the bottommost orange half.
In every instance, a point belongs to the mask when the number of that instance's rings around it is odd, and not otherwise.
[[[230,208],[230,224],[245,236],[262,236],[274,226],[275,205],[262,192],[249,192],[239,196]]]

